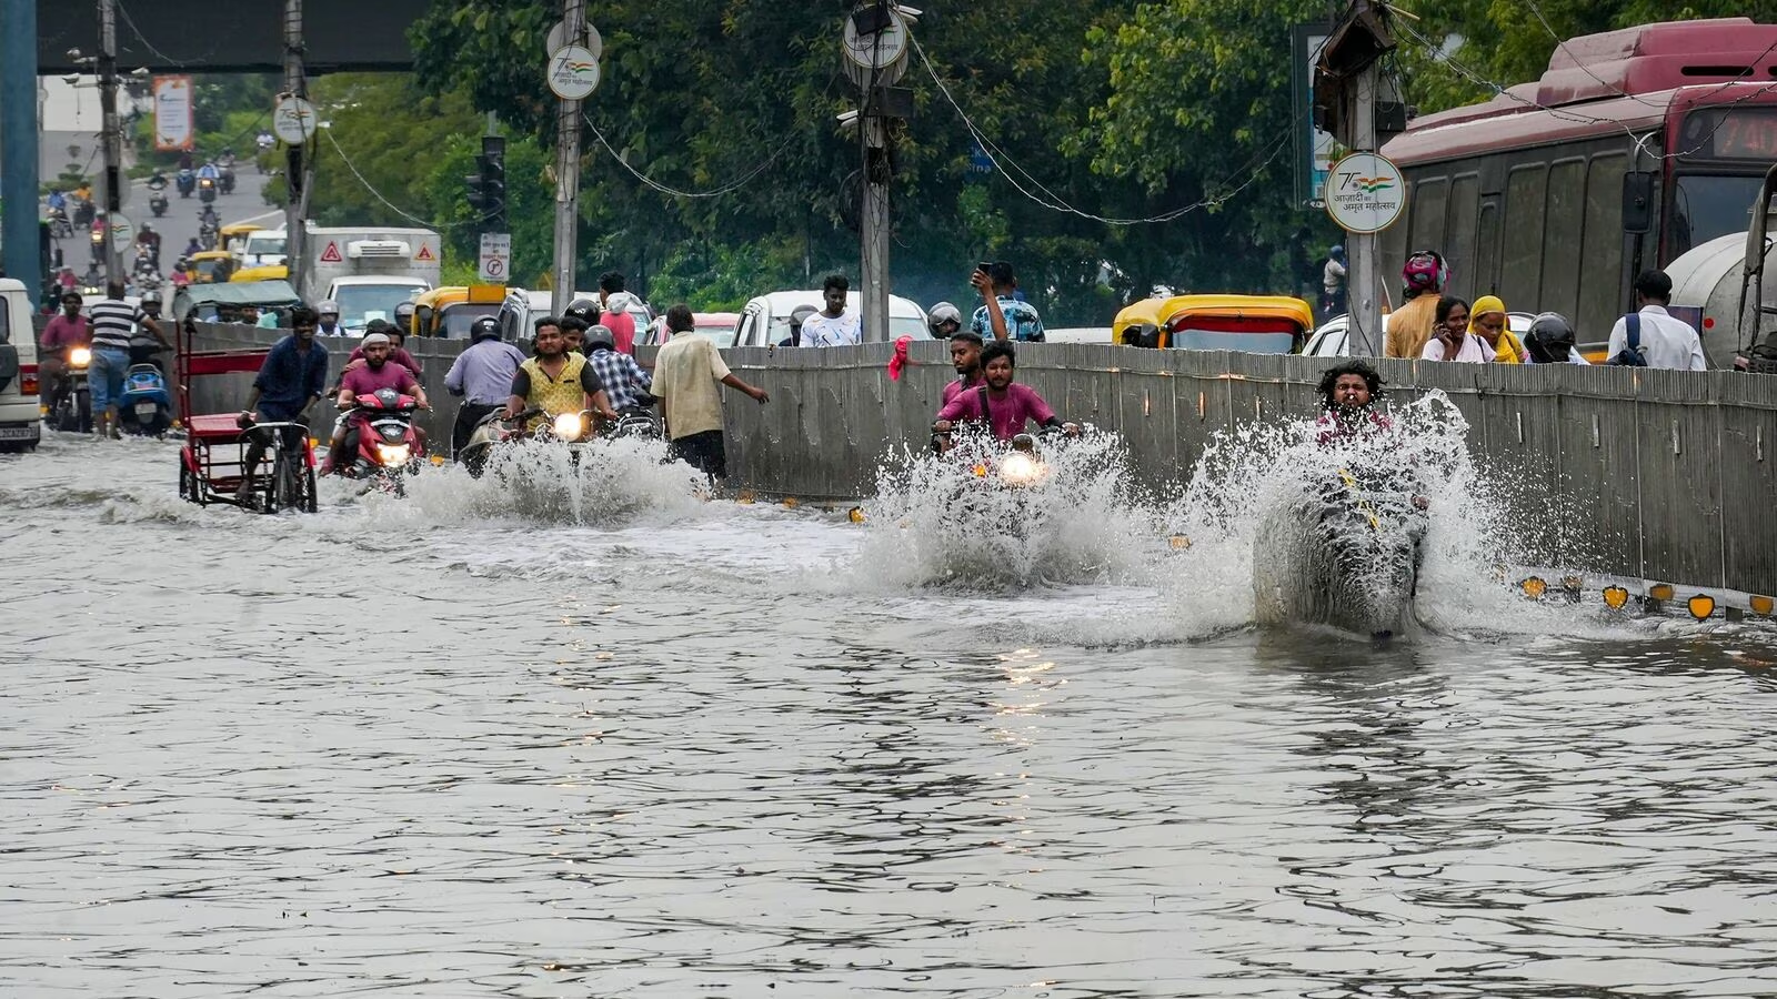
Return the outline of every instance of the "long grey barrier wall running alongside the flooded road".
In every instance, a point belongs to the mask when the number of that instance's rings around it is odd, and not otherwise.
[[[268,345],[277,331],[206,327],[206,348]],[[352,341],[327,341],[338,372]],[[425,366],[434,439],[457,400],[444,373],[462,341],[409,341]],[[800,498],[874,489],[888,448],[922,448],[944,384],[942,343],[912,345],[888,380],[892,345],[723,352],[769,405],[723,389],[729,468],[741,487]],[[638,352],[643,363],[652,350]],[[1068,420],[1114,430],[1137,478],[1182,484],[1203,446],[1249,421],[1315,416],[1327,361],[1263,354],[1025,345],[1018,377]],[[1402,405],[1445,391],[1470,423],[1477,460],[1512,496],[1530,558],[1590,572],[1757,594],[1777,590],[1777,377],[1573,364],[1375,361]],[[249,377],[203,386],[197,409],[238,409]]]

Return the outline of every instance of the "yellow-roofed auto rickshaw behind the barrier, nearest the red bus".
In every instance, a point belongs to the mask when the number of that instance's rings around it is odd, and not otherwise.
[[[1128,306],[1111,329],[1118,343],[1136,347],[1295,354],[1315,329],[1315,311],[1285,295],[1175,295]]]

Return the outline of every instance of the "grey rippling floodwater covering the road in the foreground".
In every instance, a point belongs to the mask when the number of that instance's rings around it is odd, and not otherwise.
[[[1526,604],[1436,498],[1377,645],[1104,453],[949,547],[904,476],[176,453],[0,457],[0,995],[1777,994],[1777,633]]]

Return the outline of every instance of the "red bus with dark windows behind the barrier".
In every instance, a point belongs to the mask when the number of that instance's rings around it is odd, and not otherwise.
[[[1452,293],[1562,313],[1596,343],[1635,274],[1747,229],[1777,162],[1777,25],[1576,37],[1541,80],[1418,117],[1383,153],[1407,181],[1384,261],[1439,251]]]

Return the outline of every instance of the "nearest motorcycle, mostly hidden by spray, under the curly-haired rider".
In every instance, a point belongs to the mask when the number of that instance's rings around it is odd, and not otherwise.
[[[1262,624],[1326,624],[1367,638],[1407,633],[1423,560],[1423,500],[1386,473],[1338,471],[1279,505],[1253,558]]]

